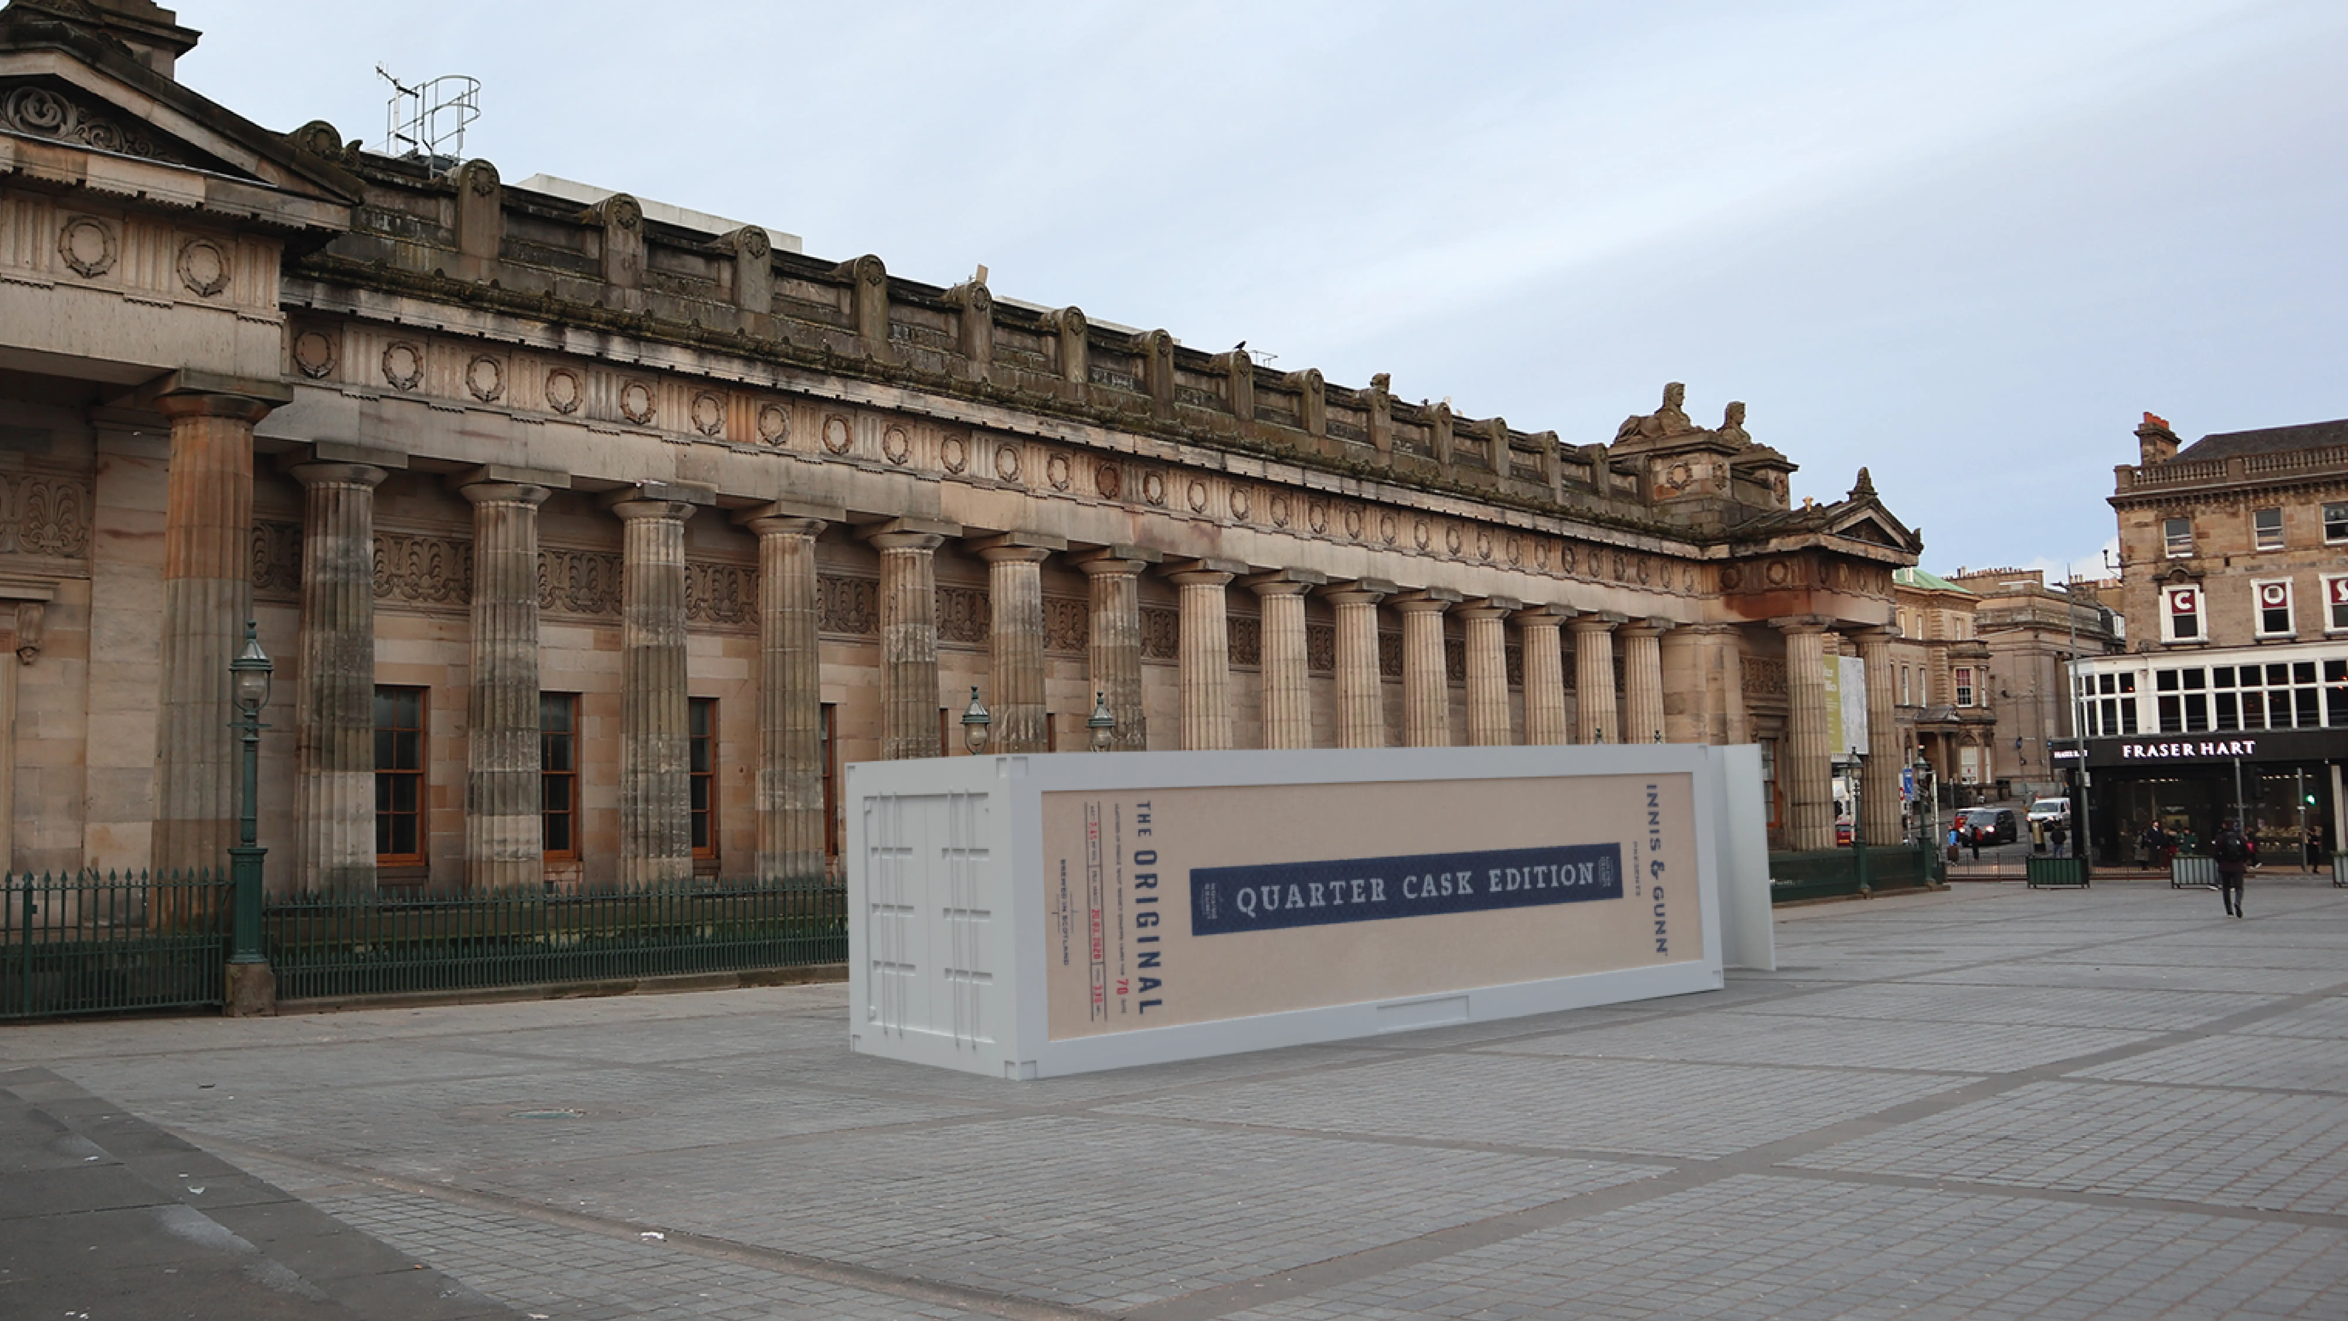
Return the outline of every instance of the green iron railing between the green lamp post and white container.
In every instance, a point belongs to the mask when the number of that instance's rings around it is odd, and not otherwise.
[[[596,983],[848,960],[848,892],[303,894],[263,915],[279,1000]]]

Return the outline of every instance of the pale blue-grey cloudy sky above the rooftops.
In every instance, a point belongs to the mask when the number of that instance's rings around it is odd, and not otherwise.
[[[183,82],[1568,443],[1667,380],[1935,573],[2094,573],[2111,467],[2348,415],[2339,0],[181,0]]]

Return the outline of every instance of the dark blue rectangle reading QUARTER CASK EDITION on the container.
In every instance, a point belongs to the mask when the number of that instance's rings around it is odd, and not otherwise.
[[[1190,934],[1622,899],[1622,845],[1190,868]]]

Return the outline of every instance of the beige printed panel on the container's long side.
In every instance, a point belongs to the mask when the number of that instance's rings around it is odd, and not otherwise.
[[[1688,774],[1043,795],[1052,1039],[1698,962]]]

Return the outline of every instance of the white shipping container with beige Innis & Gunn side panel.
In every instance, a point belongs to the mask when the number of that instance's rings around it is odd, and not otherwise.
[[[1547,753],[1505,758],[1517,774],[1491,774],[1489,748],[1381,753],[1413,763],[1383,781],[1320,753],[1115,758],[1122,784],[1082,774],[1085,758],[1028,758],[984,805],[1012,856],[989,847],[939,892],[925,941],[871,922],[923,924],[920,882],[883,880],[888,863],[859,899],[850,873],[857,1049],[1038,1077],[1716,988],[1716,751]],[[1197,784],[1205,763],[1221,784]],[[1451,763],[1486,774],[1453,779]],[[916,772],[857,767],[857,793],[873,774]],[[937,800],[911,784],[890,798]],[[878,838],[888,812],[895,838]],[[902,812],[866,807],[859,852],[967,856],[989,835],[935,840]],[[953,932],[953,910],[984,910],[989,929]],[[1021,967],[989,964],[998,932]],[[956,1037],[949,1051],[913,1039],[925,995],[888,985],[923,978],[920,943],[956,967],[951,1023],[927,1028]]]

